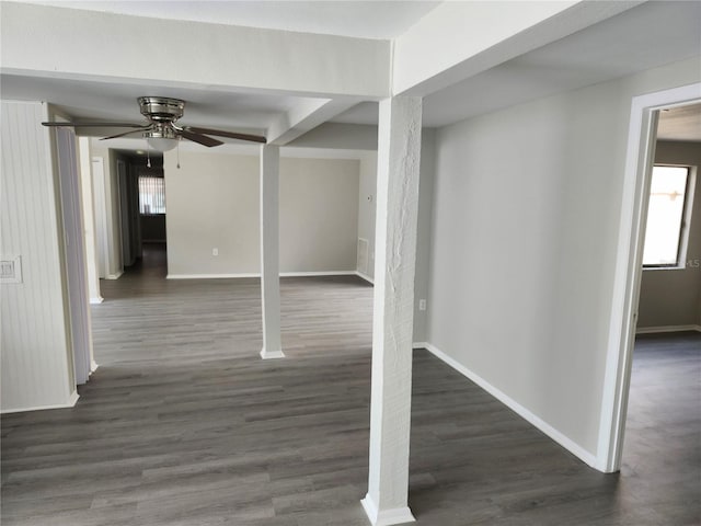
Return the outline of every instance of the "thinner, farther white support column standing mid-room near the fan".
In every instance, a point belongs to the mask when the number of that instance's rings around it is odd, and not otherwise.
[[[261,146],[261,297],[263,359],[284,358],[280,341],[278,146]]]

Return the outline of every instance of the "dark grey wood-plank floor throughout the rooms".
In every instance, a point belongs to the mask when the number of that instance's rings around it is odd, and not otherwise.
[[[366,526],[372,289],[283,279],[288,357],[263,362],[257,281],[149,258],[102,284],[76,408],[2,416],[2,525]],[[625,465],[601,474],[417,351],[416,524],[700,524],[700,353],[639,342]]]

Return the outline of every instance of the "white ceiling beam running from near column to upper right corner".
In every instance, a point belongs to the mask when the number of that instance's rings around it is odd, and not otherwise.
[[[641,3],[443,2],[394,41],[392,92],[435,93]]]

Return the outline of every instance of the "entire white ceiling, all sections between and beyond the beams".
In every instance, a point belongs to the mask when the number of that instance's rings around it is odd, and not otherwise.
[[[439,2],[411,1],[53,1],[33,2],[127,14],[216,21],[258,27],[391,38]],[[424,100],[424,125],[445,126],[507,105],[572,90],[701,53],[701,2],[646,2],[476,75]],[[467,37],[467,36],[466,36]],[[701,67],[701,65],[700,65]],[[237,93],[193,84],[136,85],[2,76],[4,99],[44,100],[77,118],[139,123],[136,99],[187,101],[181,124],[264,133],[301,98]],[[377,124],[365,102],[333,122]]]

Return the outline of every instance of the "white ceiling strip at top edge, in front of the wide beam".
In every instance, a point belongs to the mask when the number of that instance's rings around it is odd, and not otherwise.
[[[62,8],[302,33],[391,39],[440,1],[21,0]]]

